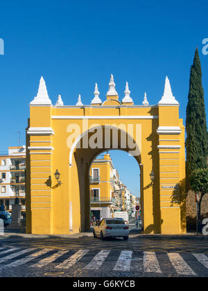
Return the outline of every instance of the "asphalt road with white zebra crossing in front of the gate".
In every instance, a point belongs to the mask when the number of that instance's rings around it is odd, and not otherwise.
[[[1,238],[0,276],[208,276],[208,240]]]

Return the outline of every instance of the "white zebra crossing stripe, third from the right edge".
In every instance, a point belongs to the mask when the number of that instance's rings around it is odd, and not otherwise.
[[[162,273],[155,252],[144,252],[144,272]]]

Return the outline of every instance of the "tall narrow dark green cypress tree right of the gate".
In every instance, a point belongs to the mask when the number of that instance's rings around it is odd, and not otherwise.
[[[198,48],[196,48],[193,65],[191,66],[186,129],[187,178],[189,180],[193,170],[207,168],[208,154],[205,99]]]

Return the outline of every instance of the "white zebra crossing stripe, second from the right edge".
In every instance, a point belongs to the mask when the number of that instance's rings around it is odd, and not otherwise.
[[[187,263],[184,261],[182,256],[180,256],[180,254],[178,254],[178,253],[168,253],[168,257],[169,257],[169,259],[171,261],[171,264],[175,268],[175,271],[177,272],[177,274],[180,274],[180,275],[195,275],[196,276],[196,273],[193,272],[193,270],[191,269],[191,267],[189,267],[189,265],[187,265]]]

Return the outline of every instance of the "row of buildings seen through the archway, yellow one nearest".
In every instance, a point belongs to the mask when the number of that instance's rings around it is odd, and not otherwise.
[[[121,182],[109,154],[94,159],[89,175],[91,213],[96,219],[114,217],[114,211],[134,209],[132,194]]]

